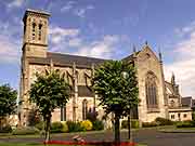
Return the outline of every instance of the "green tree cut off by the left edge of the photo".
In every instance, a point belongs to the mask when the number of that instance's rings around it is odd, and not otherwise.
[[[0,130],[2,129],[1,121],[6,116],[16,111],[17,91],[12,89],[9,84],[0,85]]]

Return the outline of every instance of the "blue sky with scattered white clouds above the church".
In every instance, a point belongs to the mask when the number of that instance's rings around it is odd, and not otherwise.
[[[20,84],[26,9],[51,13],[49,51],[122,58],[147,41],[161,50],[182,95],[195,96],[194,0],[0,0],[0,84]]]

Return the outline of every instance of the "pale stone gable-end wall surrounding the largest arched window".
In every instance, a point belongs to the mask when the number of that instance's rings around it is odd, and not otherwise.
[[[165,94],[164,94],[164,79],[161,78],[161,67],[156,55],[146,45],[136,56],[135,67],[138,69],[138,80],[139,80],[139,98],[141,99],[139,104],[139,119],[142,122],[154,121],[157,117],[166,118],[166,107],[165,107]],[[148,71],[154,72],[156,76],[157,84],[157,103],[158,108],[154,111],[148,111],[146,105],[146,93],[145,93],[145,79]]]

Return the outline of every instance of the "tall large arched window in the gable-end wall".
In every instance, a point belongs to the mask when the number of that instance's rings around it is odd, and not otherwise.
[[[151,71],[146,75],[145,93],[147,108],[158,108],[156,76]]]

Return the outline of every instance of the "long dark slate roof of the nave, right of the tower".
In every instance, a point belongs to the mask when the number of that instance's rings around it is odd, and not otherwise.
[[[90,68],[92,64],[99,65],[108,59],[48,52],[47,58],[28,57],[28,61],[30,64],[43,65],[50,65],[50,62],[52,61],[56,66],[73,66],[73,64],[75,63],[77,67]]]

